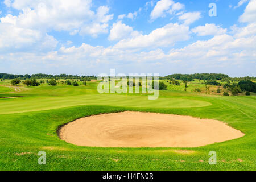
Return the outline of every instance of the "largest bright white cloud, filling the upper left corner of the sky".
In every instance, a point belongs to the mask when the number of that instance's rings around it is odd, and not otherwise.
[[[15,22],[18,27],[41,31],[68,31],[72,35],[81,28],[81,34],[86,32],[96,36],[107,33],[104,27],[108,27],[106,23],[113,19],[113,14],[108,14],[109,8],[106,6],[92,11],[91,0],[14,0],[5,1],[5,4],[22,13],[18,16],[7,15],[7,18],[1,18],[2,22]]]

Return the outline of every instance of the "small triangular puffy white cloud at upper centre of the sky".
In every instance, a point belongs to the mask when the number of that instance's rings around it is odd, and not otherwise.
[[[121,40],[126,38],[133,38],[139,36],[138,31],[134,31],[133,27],[127,26],[121,21],[113,23],[112,29],[110,30],[109,40]]]

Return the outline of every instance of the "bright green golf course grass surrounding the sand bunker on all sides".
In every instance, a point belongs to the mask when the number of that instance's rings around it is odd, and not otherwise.
[[[143,94],[98,94],[97,82],[19,89],[0,86],[1,170],[256,169],[256,96],[207,96],[168,88],[150,101]],[[3,98],[15,96],[26,97]],[[246,135],[197,148],[81,147],[57,136],[60,125],[77,118],[126,110],[218,119]],[[46,165],[38,164],[39,151],[46,152]],[[217,165],[208,164],[209,151],[217,152]]]

